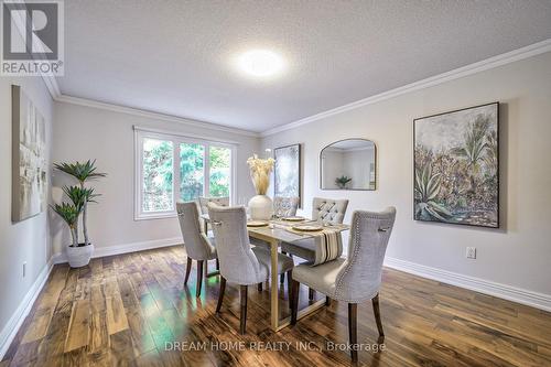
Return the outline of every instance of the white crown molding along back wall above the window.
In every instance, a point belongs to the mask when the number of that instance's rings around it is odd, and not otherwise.
[[[87,98],[79,98],[79,97],[72,97],[72,96],[67,96],[67,95],[61,95],[54,99],[58,102],[98,108],[98,109],[109,110],[109,111],[114,111],[114,112],[128,114],[128,115],[145,117],[145,118],[151,118],[151,119],[156,119],[156,120],[163,120],[163,121],[169,121],[169,122],[177,122],[177,123],[183,123],[183,125],[194,127],[194,128],[199,128],[199,129],[208,129],[208,130],[214,130],[214,131],[229,132],[229,133],[235,133],[235,134],[246,136],[246,137],[253,137],[253,138],[260,137],[260,134],[258,132],[255,132],[255,131],[249,131],[249,130],[244,130],[244,129],[238,129],[238,128],[230,128],[227,126],[222,126],[222,125],[217,125],[217,123],[213,123],[213,122],[192,120],[192,119],[186,119],[183,117],[177,117],[177,116],[173,116],[173,115],[165,115],[165,114],[149,111],[149,110],[144,110],[144,109],[133,108],[133,107],[101,102],[101,101],[87,99]]]

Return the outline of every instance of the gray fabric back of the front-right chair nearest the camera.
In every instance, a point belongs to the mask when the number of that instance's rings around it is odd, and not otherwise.
[[[346,265],[336,278],[339,300],[363,302],[379,291],[382,261],[395,225],[396,208],[354,212]]]

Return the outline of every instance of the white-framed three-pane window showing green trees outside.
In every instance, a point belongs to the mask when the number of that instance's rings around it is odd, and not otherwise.
[[[176,201],[233,196],[235,144],[136,128],[134,219],[175,216]]]

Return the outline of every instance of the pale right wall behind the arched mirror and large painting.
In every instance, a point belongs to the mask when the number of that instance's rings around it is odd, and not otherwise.
[[[412,120],[500,101],[501,229],[414,222]],[[318,154],[348,138],[378,148],[378,188],[321,191]],[[263,139],[263,148],[303,143],[306,214],[315,195],[355,209],[398,209],[388,257],[551,295],[551,53],[348,110]],[[465,258],[476,246],[477,259]]]

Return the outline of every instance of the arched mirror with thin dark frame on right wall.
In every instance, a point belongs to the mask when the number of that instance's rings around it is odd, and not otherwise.
[[[322,190],[375,190],[377,148],[366,139],[346,139],[325,147],[320,154]]]

